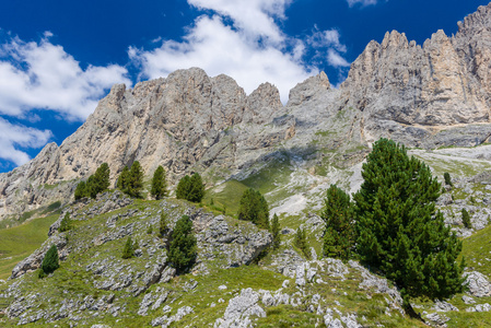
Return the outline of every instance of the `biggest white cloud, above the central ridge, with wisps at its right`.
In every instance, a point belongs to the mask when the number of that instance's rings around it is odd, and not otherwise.
[[[339,51],[346,51],[337,31],[315,31],[318,35],[306,39],[287,36],[278,22],[285,19],[291,0],[188,2],[209,12],[195,21],[183,42],[164,40],[150,50],[129,48],[129,57],[140,67],[142,78],[166,77],[177,69],[200,67],[210,75],[225,73],[234,78],[247,93],[270,82],[285,103],[290,89],[318,73],[316,67],[302,60],[306,46],[334,48],[340,58]]]

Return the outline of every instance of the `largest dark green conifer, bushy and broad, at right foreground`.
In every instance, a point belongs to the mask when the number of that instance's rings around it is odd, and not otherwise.
[[[408,296],[447,297],[463,290],[461,242],[435,210],[441,185],[406,149],[381,139],[363,164],[354,195],[356,250]],[[406,302],[406,305],[408,303]]]

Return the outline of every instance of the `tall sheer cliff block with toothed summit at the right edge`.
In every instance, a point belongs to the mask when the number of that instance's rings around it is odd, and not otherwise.
[[[439,31],[422,47],[396,31],[371,42],[341,85],[343,101],[363,112],[367,139],[410,142],[442,126],[491,122],[490,17],[491,4],[480,7],[457,35]],[[478,142],[490,133],[483,128]]]

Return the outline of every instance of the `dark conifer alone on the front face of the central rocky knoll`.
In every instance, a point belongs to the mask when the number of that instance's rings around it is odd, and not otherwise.
[[[196,243],[192,222],[189,216],[183,215],[176,222],[168,247],[168,261],[177,272],[186,272],[195,263],[198,254]]]

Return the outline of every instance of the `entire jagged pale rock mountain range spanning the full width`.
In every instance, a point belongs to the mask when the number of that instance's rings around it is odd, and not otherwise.
[[[387,33],[366,46],[339,90],[322,72],[291,90],[284,106],[270,83],[246,95],[232,78],[198,68],[132,90],[115,85],[61,145],[0,174],[0,220],[69,201],[104,162],[113,183],[138,160],[148,178],[163,165],[173,183],[200,172],[211,186],[284,152],[312,166],[327,157],[350,167],[381,137],[425,149],[489,142],[491,3],[458,27],[422,46]]]

